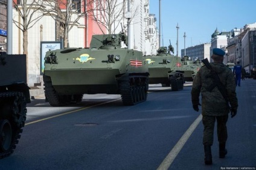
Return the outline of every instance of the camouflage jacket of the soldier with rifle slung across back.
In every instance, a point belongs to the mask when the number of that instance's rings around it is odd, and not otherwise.
[[[226,88],[231,108],[237,109],[237,95],[235,93],[235,79],[230,68],[226,67],[223,63],[210,63],[213,70],[218,73],[220,81]],[[214,83],[213,78],[210,76],[211,71],[203,66],[200,68],[196,77],[193,80],[193,87],[191,90],[191,100],[193,105],[199,104],[199,95],[202,95],[202,115],[205,116],[222,116],[229,113],[226,100],[223,98],[217,87],[209,91],[210,85]],[[209,77],[210,76],[210,77]]]

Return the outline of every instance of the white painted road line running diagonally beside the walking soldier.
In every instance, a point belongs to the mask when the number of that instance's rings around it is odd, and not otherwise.
[[[170,167],[171,163],[173,163],[173,160],[179,154],[179,151],[181,151],[182,147],[188,141],[188,138],[190,138],[190,135],[194,132],[194,130],[196,129],[196,127],[198,126],[201,120],[202,120],[202,115],[200,114],[199,117],[196,118],[196,120],[191,124],[188,130],[184,133],[181,139],[179,139],[179,141],[173,147],[170,153],[168,153],[168,155],[162,161],[161,165],[158,167],[158,170],[164,170]]]

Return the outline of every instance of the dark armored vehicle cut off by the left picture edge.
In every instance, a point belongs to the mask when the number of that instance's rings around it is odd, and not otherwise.
[[[0,159],[9,156],[21,138],[30,91],[25,55],[0,53]]]

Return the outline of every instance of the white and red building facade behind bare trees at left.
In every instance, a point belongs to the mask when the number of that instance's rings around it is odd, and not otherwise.
[[[79,1],[79,2],[78,2]],[[20,1],[15,0],[18,4],[18,8],[22,10]],[[34,3],[34,1],[27,1],[27,7]],[[46,3],[46,2],[45,2]],[[67,8],[66,1],[60,1],[58,10],[54,10],[51,14],[46,11],[51,10],[50,4],[43,4],[45,8],[39,8],[33,13],[32,19],[40,17],[40,19],[33,23],[30,29],[28,29],[28,85],[34,86],[34,83],[42,82],[42,76],[40,76],[40,67],[43,60],[43,54],[40,53],[41,42],[54,42],[65,41],[64,40],[64,24],[63,18],[66,14]],[[86,11],[92,11],[89,6],[81,5],[85,1],[74,1],[74,3],[80,3],[80,5],[72,4],[72,9],[69,11],[71,19],[68,23],[68,47],[89,47],[91,37],[93,34],[105,34],[104,28],[99,28],[99,24],[91,19],[91,17],[83,15]],[[91,7],[91,6],[90,6]],[[31,10],[36,9],[36,4],[33,5]],[[13,8],[13,20],[18,23],[18,26],[22,25],[21,15],[17,8]],[[30,16],[28,16],[30,17]],[[24,53],[23,49],[23,32],[18,26],[13,24],[13,54]],[[103,30],[103,32],[102,32]]]

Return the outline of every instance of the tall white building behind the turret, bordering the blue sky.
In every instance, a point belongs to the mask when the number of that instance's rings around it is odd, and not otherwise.
[[[119,0],[123,2],[123,0]],[[156,28],[156,18],[154,14],[149,14],[149,0],[130,1],[130,13],[124,17],[132,16],[130,22],[130,49],[140,50],[144,55],[155,55],[158,49],[158,30]],[[127,10],[127,6],[126,6]],[[127,23],[127,19],[123,19]],[[121,25],[117,26],[115,32],[121,31]],[[124,24],[127,31],[127,24]]]

